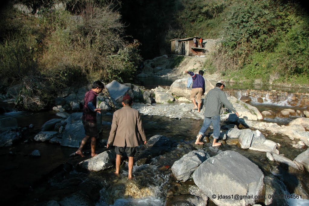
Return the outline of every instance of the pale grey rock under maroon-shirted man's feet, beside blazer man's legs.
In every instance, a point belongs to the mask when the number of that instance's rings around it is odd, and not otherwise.
[[[89,171],[100,171],[114,166],[116,153],[114,150],[104,151],[97,156],[79,163],[79,166]]]

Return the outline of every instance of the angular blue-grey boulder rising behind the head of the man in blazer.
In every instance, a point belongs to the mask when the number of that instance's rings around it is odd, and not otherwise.
[[[120,84],[116,80],[114,80],[111,83],[105,85],[105,87],[108,90],[110,97],[112,99],[114,99],[117,103],[121,103],[122,102],[122,97],[126,93],[128,93],[128,90],[130,89],[130,87],[125,86],[123,84]],[[131,96],[131,98],[133,98],[133,96]]]

